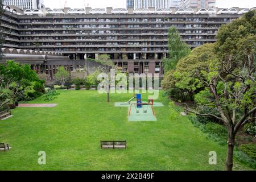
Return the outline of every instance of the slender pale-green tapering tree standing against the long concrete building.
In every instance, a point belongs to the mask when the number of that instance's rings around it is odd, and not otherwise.
[[[181,40],[179,31],[174,26],[168,30],[168,58],[163,60],[164,71],[174,70],[180,59],[189,55],[191,49]]]

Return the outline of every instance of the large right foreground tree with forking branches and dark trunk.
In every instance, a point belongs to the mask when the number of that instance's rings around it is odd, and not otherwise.
[[[233,151],[238,130],[254,117],[256,111],[256,11],[222,26],[217,35],[217,64],[211,64],[207,77],[205,96],[201,106],[217,108],[220,117],[201,114],[188,106],[186,110],[205,117],[219,119],[228,128],[228,155],[226,170],[233,168]],[[201,93],[199,93],[201,94]],[[201,94],[201,96],[203,96]]]

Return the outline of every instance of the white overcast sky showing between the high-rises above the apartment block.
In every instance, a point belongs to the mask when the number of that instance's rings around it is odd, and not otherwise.
[[[44,5],[51,8],[65,7],[126,7],[126,0],[44,0]],[[256,7],[255,0],[216,0],[217,7]]]

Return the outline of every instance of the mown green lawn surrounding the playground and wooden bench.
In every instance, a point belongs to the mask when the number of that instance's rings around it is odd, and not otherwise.
[[[224,170],[226,147],[208,140],[171,107],[160,93],[156,122],[128,122],[127,107],[114,102],[133,94],[62,90],[53,108],[16,108],[14,117],[0,121],[0,170]],[[145,95],[143,100],[146,101]],[[45,103],[42,98],[30,103]],[[127,150],[101,150],[100,140],[127,140]],[[46,151],[46,165],[38,152]],[[217,165],[209,165],[209,151]],[[235,169],[247,169],[236,163]]]

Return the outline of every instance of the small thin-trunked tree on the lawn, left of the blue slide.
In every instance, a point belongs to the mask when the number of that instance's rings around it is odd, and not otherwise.
[[[110,83],[113,81],[112,76],[110,75],[110,69],[114,66],[113,61],[110,59],[109,55],[99,55],[98,62],[105,65],[104,67],[100,67],[99,70],[101,73],[105,73],[108,75],[108,90],[107,90],[107,102],[110,102],[109,94],[110,94]]]

